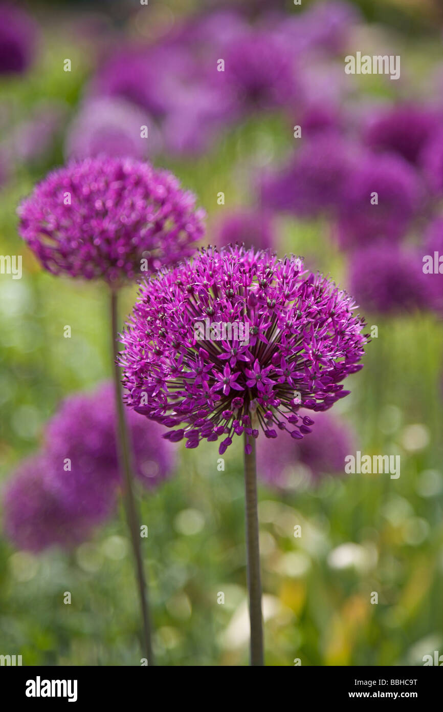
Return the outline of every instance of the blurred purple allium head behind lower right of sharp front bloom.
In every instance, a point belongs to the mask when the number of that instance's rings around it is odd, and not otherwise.
[[[308,412],[299,412],[300,418]],[[343,473],[345,457],[355,451],[355,435],[343,420],[329,413],[319,413],[307,438],[297,442],[289,438],[278,443],[259,441],[257,464],[259,476],[277,488],[290,485],[291,473],[298,464],[309,468],[311,481],[318,483],[327,473]]]

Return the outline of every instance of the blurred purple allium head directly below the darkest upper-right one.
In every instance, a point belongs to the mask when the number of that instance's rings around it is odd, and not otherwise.
[[[371,202],[377,193],[378,204]],[[368,154],[349,172],[338,211],[343,247],[378,239],[399,240],[420,205],[422,187],[415,169],[395,155]]]

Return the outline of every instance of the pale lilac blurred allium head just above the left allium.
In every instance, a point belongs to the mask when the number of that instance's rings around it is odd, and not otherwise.
[[[142,128],[147,137],[142,137]],[[159,130],[146,112],[112,97],[87,100],[65,140],[66,157],[77,159],[100,155],[143,159],[160,148]]]

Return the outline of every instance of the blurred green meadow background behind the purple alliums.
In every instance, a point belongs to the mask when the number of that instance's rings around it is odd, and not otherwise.
[[[170,3],[183,13],[196,5]],[[434,31],[441,4],[359,6],[371,31],[395,33],[402,70],[420,84],[441,59]],[[1,81],[0,104],[23,121],[42,99],[54,99],[69,117],[94,68],[93,40],[75,28],[92,12],[118,24],[124,4],[36,3],[32,9],[43,27],[41,54],[27,75]],[[63,72],[65,57],[73,61],[71,73]],[[388,90],[371,79],[373,95]],[[220,211],[252,202],[244,178],[260,168],[264,146],[277,162],[292,141],[283,120],[262,116],[228,131],[203,157],[164,155],[156,164],[196,192],[208,211],[209,241]],[[21,280],[0,277],[2,480],[37,449],[60,399],[111,375],[105,290],[44,273],[16,234],[18,201],[62,161],[60,140],[38,164],[21,165],[0,191],[0,251],[23,255]],[[225,206],[217,204],[219,191]],[[343,256],[326,240],[327,230],[321,221],[280,219],[279,251],[309,256],[346,286]],[[125,291],[122,321],[136,293]],[[368,323],[378,325],[378,339],[368,345],[363,371],[350,379],[351,395],[334,411],[353,424],[365,454],[400,453],[401,476],[331,474],[297,493],[260,487],[268,665],[291,666],[296,658],[302,665],[417,665],[424,654],[443,652],[443,325],[431,315],[368,315]],[[65,325],[70,339],[63,337]],[[149,527],[144,555],[159,664],[247,664],[240,439],[225,454],[225,471],[217,460],[214,445],[180,449],[176,475],[140,501]],[[301,538],[294,538],[297,524]],[[65,591],[72,593],[70,606],[63,604]],[[122,512],[69,555],[37,557],[0,538],[2,653],[36,665],[137,665],[138,628]]]

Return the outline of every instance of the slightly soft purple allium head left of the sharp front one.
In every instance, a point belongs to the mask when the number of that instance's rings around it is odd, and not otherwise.
[[[18,215],[21,236],[48,271],[108,283],[191,255],[204,231],[204,212],[174,175],[112,157],[51,172]]]

